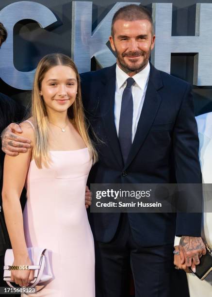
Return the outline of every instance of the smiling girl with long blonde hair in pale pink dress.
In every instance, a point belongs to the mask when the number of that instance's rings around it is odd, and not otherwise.
[[[84,194],[97,152],[84,120],[80,77],[69,57],[50,54],[40,61],[32,116],[20,126],[31,148],[16,157],[6,155],[2,191],[13,265],[32,264],[27,247],[47,248],[53,278],[32,296],[95,297],[94,241]],[[11,276],[27,286],[33,270],[12,270]]]

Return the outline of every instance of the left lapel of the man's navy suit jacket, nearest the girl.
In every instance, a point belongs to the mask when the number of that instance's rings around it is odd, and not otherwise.
[[[105,134],[108,139],[108,145],[114,153],[114,157],[121,167],[123,159],[118,141],[118,136],[114,120],[114,99],[115,99],[115,67],[116,64],[109,68],[105,77],[102,79],[100,89],[100,115],[102,117]]]

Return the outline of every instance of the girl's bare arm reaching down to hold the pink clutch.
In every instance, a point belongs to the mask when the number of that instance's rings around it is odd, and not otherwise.
[[[33,141],[33,128],[29,123],[21,124],[23,136]],[[24,237],[23,215],[20,195],[32,157],[32,148],[15,157],[6,155],[4,159],[2,203],[7,230],[14,253],[13,265],[30,265],[26,241]],[[33,271],[11,270],[11,278],[20,286],[27,286],[33,280]]]

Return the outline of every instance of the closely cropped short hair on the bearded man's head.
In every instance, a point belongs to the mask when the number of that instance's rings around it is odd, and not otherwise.
[[[152,33],[154,33],[153,20],[150,12],[142,5],[130,4],[121,7],[114,14],[112,25],[111,25],[111,35],[114,37],[114,22],[118,19],[123,19],[127,21],[142,20],[147,19],[152,25]]]

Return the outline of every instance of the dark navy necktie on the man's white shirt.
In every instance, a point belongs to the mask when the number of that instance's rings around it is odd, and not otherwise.
[[[122,157],[126,163],[132,145],[132,115],[133,100],[131,86],[135,81],[129,77],[121,100],[121,113],[118,128],[118,139],[121,147]]]

